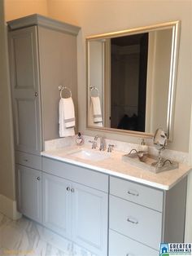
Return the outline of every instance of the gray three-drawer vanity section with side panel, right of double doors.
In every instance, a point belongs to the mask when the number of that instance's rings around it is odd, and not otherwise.
[[[184,242],[185,198],[186,178],[164,191],[111,176],[109,255],[157,256],[160,243]]]

